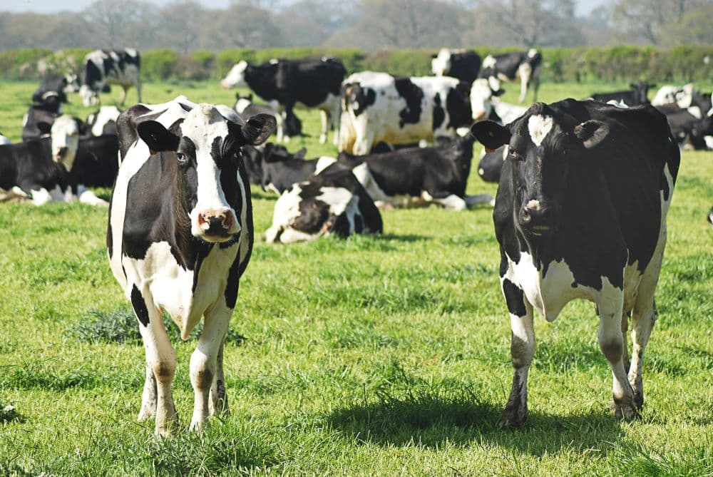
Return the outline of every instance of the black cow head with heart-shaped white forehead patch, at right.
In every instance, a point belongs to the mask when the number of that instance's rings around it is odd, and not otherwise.
[[[488,149],[508,144],[508,158],[518,227],[530,237],[553,232],[566,190],[570,161],[602,142],[609,127],[597,120],[577,123],[535,103],[506,126],[493,121],[473,124],[471,133]],[[502,174],[507,172],[503,166]]]

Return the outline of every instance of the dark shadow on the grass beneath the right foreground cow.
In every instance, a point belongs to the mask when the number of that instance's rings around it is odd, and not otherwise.
[[[429,448],[495,444],[532,456],[572,448],[606,452],[622,437],[619,422],[606,409],[567,416],[530,411],[521,429],[502,430],[497,424],[502,406],[434,396],[381,399],[337,409],[327,422],[358,443]]]

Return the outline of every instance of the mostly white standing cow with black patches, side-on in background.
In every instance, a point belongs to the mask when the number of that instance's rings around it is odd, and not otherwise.
[[[472,123],[469,93],[468,83],[448,76],[355,73],[342,87],[339,150],[364,155],[380,141],[396,145],[456,135]]]

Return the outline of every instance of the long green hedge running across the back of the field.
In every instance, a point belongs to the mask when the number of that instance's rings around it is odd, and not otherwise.
[[[521,48],[473,48],[481,56]],[[71,69],[78,72],[87,49],[74,48],[52,52],[45,49],[0,51],[0,78],[31,80]],[[421,76],[429,74],[431,55],[436,50],[382,50],[367,52],[356,48],[267,48],[253,50],[232,48],[220,52],[194,51],[188,56],[170,49],[143,51],[142,75],[148,81],[205,80],[225,76],[240,60],[262,63],[271,58],[337,56],[349,73],[388,71]],[[713,46],[677,46],[670,49],[652,46],[612,46],[580,48],[543,48],[543,81],[627,82],[649,80],[686,83],[710,81]],[[41,68],[38,68],[41,63]],[[713,63],[713,61],[711,61]]]

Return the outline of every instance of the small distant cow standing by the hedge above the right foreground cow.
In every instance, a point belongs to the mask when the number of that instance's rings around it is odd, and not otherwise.
[[[533,101],[537,101],[537,91],[540,88],[540,71],[542,70],[542,54],[535,48],[529,51],[516,51],[501,55],[488,55],[483,60],[481,78],[488,81],[515,81],[520,79],[520,98],[525,101],[530,83],[533,85]],[[491,79],[492,78],[492,79]],[[493,86],[494,90],[499,88]]]

